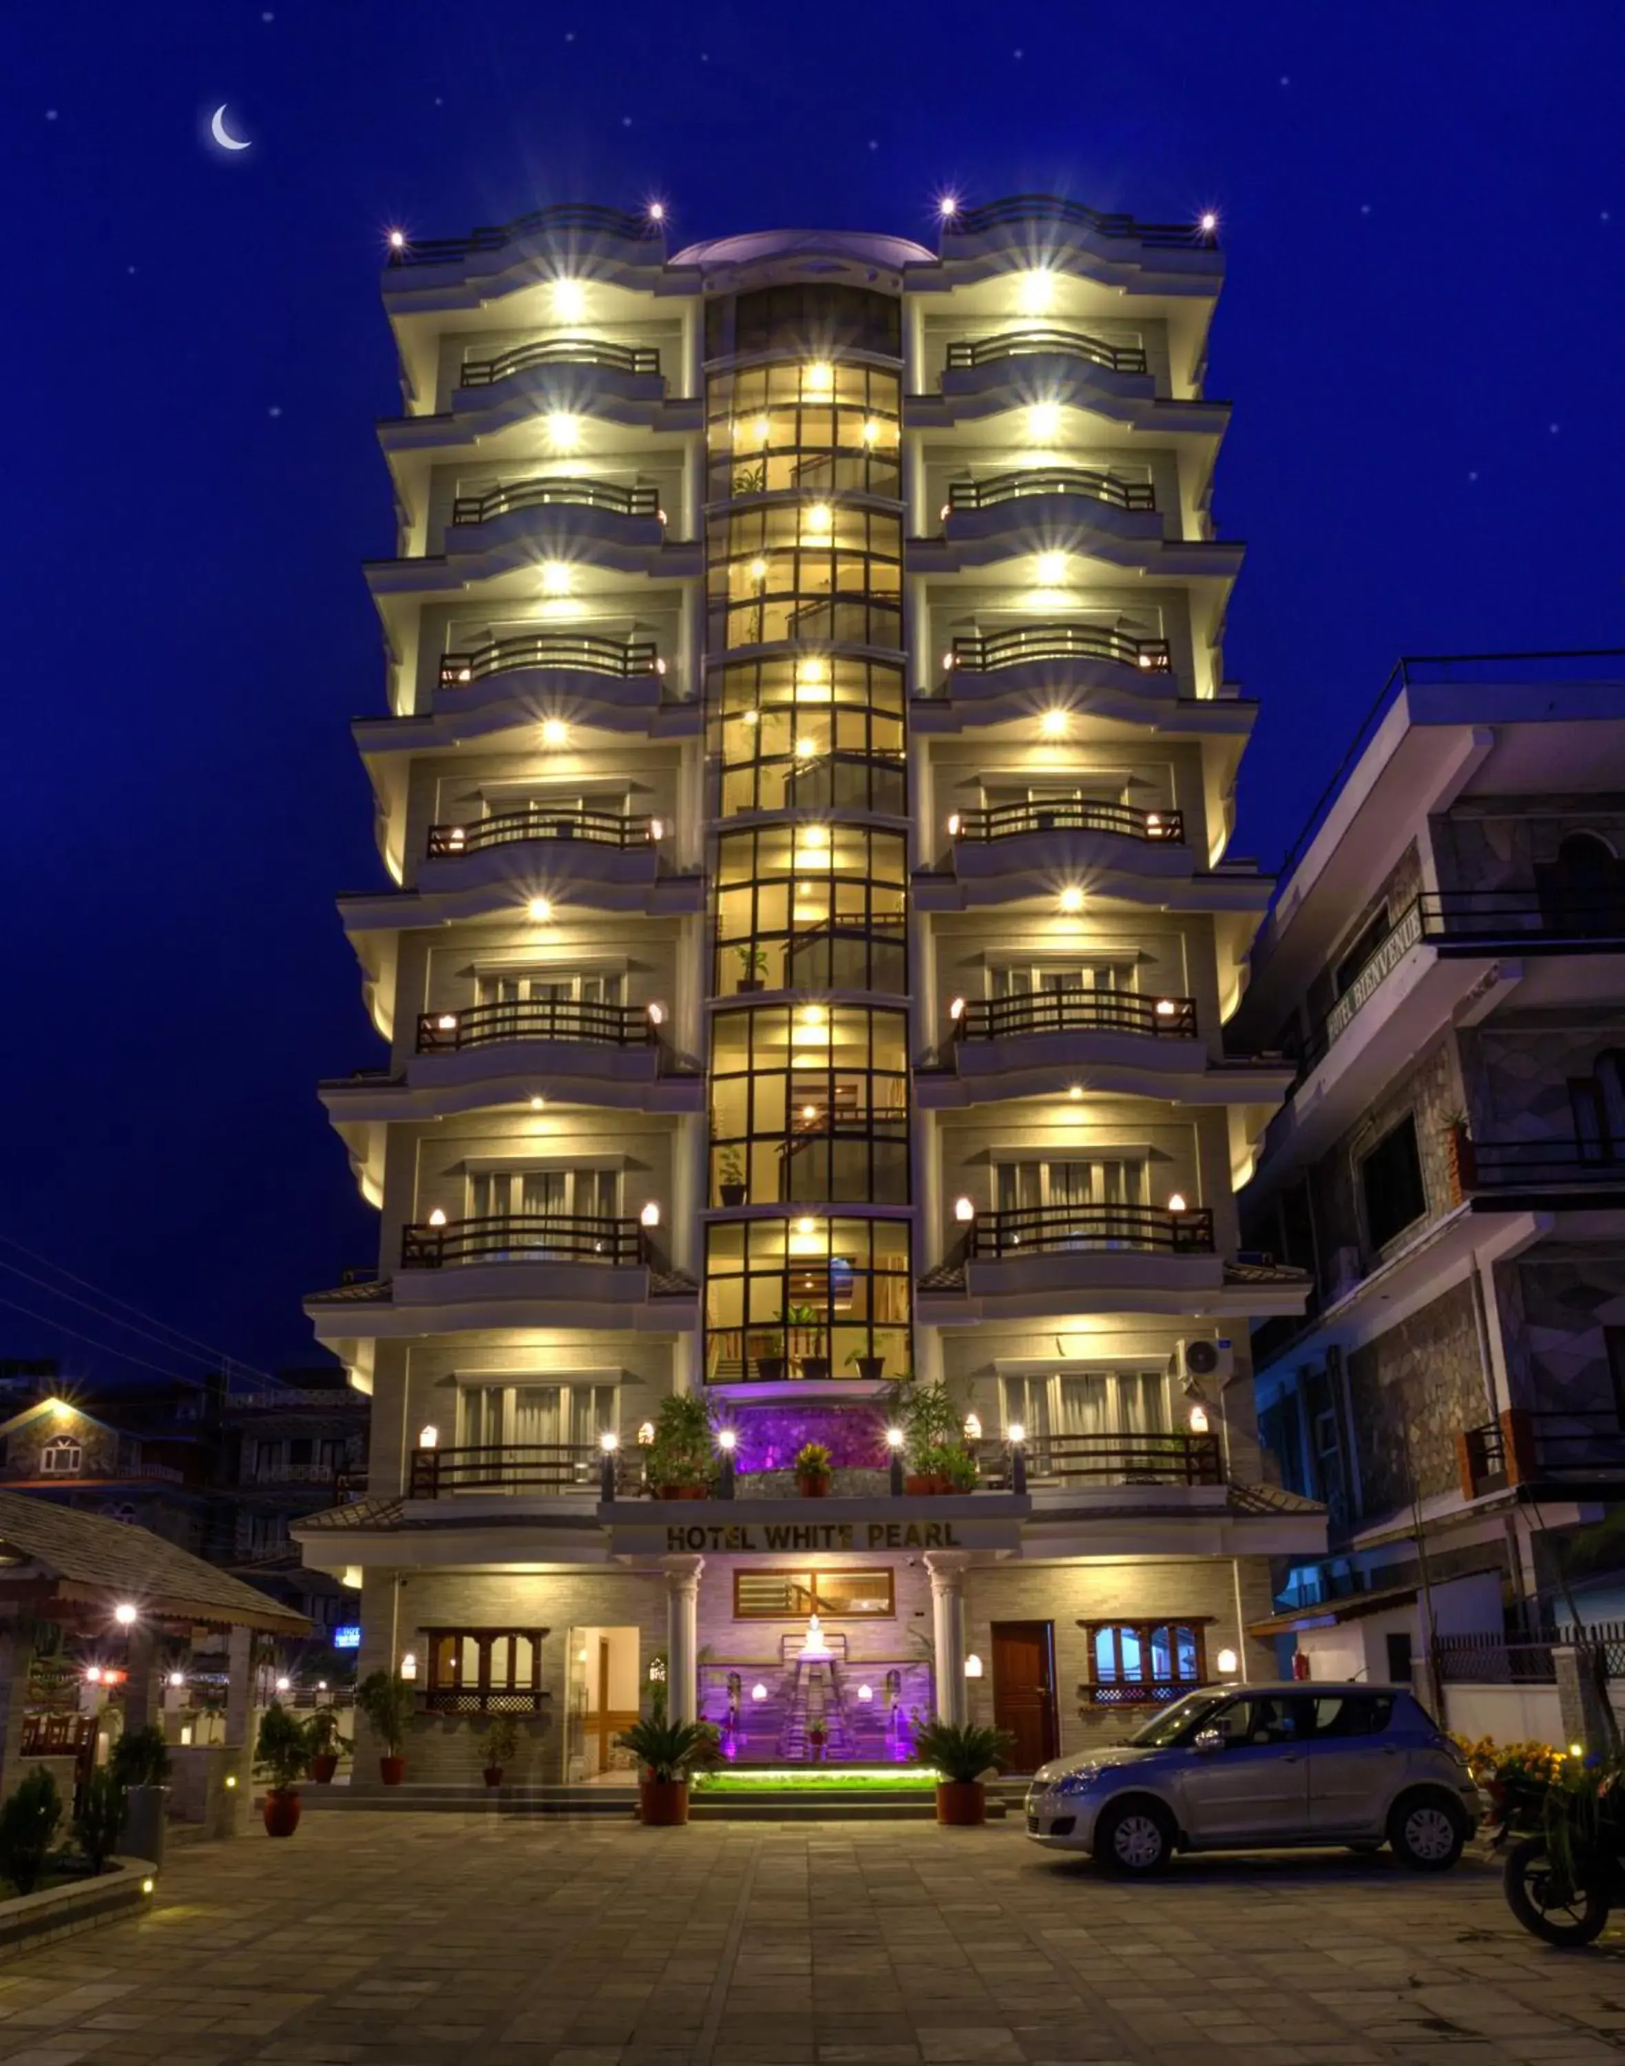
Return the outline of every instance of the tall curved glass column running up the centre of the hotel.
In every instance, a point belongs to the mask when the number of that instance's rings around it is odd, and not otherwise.
[[[710,1382],[909,1353],[900,306],[708,310]]]

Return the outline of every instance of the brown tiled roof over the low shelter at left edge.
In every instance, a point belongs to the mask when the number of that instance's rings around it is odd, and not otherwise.
[[[258,1587],[126,1521],[81,1514],[52,1500],[31,1500],[25,1492],[0,1492],[0,1545],[43,1566],[62,1593],[89,1603],[128,1599],[176,1620],[310,1634],[301,1614],[291,1614]]]

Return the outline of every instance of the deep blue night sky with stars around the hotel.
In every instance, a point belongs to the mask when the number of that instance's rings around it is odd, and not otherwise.
[[[314,1085],[378,1060],[332,897],[380,880],[345,723],[386,225],[1216,207],[1237,851],[1274,862],[1398,653],[1625,645],[1621,109],[1617,0],[8,10],[0,1233],[258,1364],[374,1254]],[[0,1306],[0,1353],[52,1349],[124,1368]]]

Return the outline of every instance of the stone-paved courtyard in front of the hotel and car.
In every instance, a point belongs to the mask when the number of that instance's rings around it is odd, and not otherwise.
[[[1014,1824],[322,1814],[180,1851],[142,1919],[0,1963],[8,2066],[1621,2056],[1625,1928],[1544,1950],[1483,1864],[1196,1859],[1129,1888]]]

